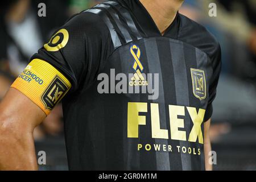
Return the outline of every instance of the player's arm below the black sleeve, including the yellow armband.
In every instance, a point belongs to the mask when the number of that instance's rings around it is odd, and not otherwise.
[[[0,104],[0,169],[37,169],[33,131],[71,89],[46,61],[34,59]]]

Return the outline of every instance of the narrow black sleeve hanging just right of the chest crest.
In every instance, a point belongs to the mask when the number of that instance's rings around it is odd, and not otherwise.
[[[209,101],[207,110],[205,113],[205,121],[208,121],[213,114],[213,101],[216,97],[217,93],[217,86],[218,86],[218,80],[220,78],[220,72],[221,72],[221,48],[218,44],[216,51],[214,52],[214,55],[212,57],[212,69],[213,74],[210,78],[210,85],[209,85]]]

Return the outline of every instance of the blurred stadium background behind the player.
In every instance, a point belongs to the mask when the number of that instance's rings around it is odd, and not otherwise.
[[[47,16],[38,16],[38,4]],[[0,2],[0,101],[29,58],[70,16],[101,1],[9,0]],[[217,17],[208,15],[217,4]],[[222,73],[210,135],[215,170],[256,170],[256,1],[185,0],[181,14],[204,24],[221,43]],[[67,170],[61,105],[34,132],[46,151],[41,170]]]

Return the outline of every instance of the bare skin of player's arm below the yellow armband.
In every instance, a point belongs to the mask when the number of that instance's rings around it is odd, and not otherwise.
[[[33,131],[46,118],[42,109],[11,88],[0,104],[0,170],[38,169]]]

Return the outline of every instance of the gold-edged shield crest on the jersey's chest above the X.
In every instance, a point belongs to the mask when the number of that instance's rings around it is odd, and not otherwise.
[[[204,100],[207,95],[204,71],[191,68],[191,76],[194,96],[200,100]]]

